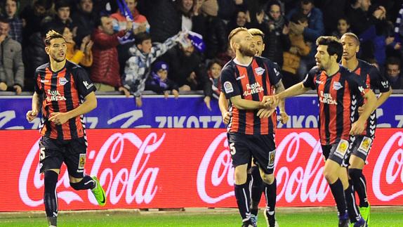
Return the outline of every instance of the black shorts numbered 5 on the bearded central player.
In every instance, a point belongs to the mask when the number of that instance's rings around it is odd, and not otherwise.
[[[251,163],[251,157],[253,157],[254,162],[265,171],[265,174],[274,172],[276,145],[273,134],[228,134],[227,136],[234,167]]]

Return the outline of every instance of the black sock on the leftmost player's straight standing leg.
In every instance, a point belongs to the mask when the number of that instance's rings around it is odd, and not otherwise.
[[[58,176],[55,171],[45,171],[45,192],[44,192],[44,205],[46,217],[50,226],[58,225],[58,195],[56,193],[56,184],[58,183]]]

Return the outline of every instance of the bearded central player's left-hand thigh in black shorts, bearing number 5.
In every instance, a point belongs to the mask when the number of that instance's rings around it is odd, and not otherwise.
[[[251,151],[249,150],[249,143],[246,135],[228,134],[227,136],[232,157],[232,165],[237,167],[243,164],[250,164]]]

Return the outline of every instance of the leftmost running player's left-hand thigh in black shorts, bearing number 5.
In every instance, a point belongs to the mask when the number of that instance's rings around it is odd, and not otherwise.
[[[63,146],[57,140],[48,137],[42,137],[39,141],[39,163],[40,172],[49,169],[59,169],[63,162]]]

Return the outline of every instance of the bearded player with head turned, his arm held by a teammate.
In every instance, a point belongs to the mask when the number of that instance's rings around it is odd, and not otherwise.
[[[230,122],[227,127],[228,143],[234,171],[234,191],[242,226],[253,226],[250,212],[250,191],[247,182],[248,164],[253,156],[265,185],[267,226],[275,226],[276,187],[275,127],[276,116],[260,119],[256,114],[264,108],[263,97],[272,95],[271,86],[284,90],[281,74],[275,63],[255,56],[256,44],[244,27],[238,27],[228,37],[236,57],[221,71],[220,81],[225,98],[230,100]]]

